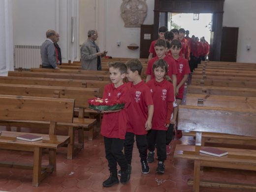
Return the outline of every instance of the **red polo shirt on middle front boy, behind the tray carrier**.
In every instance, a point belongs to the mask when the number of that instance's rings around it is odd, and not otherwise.
[[[145,123],[148,119],[148,105],[153,105],[150,89],[144,81],[136,85],[129,82],[127,86],[130,96],[127,132],[132,132],[136,135],[147,134]]]

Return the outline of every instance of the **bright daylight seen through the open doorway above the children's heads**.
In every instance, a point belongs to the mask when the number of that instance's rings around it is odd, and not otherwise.
[[[194,13],[168,13],[168,30],[184,28],[190,31],[192,35],[198,37],[204,36],[210,43],[212,31],[212,13],[199,13],[198,20],[194,20]]]

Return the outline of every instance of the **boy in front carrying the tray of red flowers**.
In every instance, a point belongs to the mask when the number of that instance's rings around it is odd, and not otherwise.
[[[126,184],[130,179],[131,166],[128,164],[122,150],[127,129],[127,108],[130,104],[128,87],[123,82],[126,77],[127,66],[124,63],[109,65],[111,84],[104,87],[103,99],[118,99],[125,101],[125,108],[116,111],[104,112],[100,133],[104,136],[105,153],[110,171],[109,178],[103,182],[104,187],[110,187],[119,183],[117,177],[117,163],[121,167],[122,176],[120,182]]]

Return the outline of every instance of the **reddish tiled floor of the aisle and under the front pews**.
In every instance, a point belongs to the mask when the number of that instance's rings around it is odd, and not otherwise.
[[[85,134],[85,149],[80,151],[73,160],[66,160],[66,149],[60,148],[57,155],[57,171],[43,180],[37,188],[32,187],[31,170],[0,167],[0,190],[9,192],[192,192],[192,187],[187,185],[187,180],[192,178],[192,161],[173,158],[175,144],[192,144],[194,143],[192,137],[172,141],[172,154],[165,161],[166,171],[162,175],[155,173],[157,162],[151,163],[151,172],[143,175],[138,151],[134,147],[130,182],[126,185],[118,184],[103,188],[102,182],[109,175],[104,157],[103,138],[97,136],[90,142],[87,139],[87,133]],[[29,152],[0,150],[0,154],[0,161],[32,161],[32,154]],[[47,162],[47,155],[43,156],[43,162]],[[201,176],[209,180],[256,183],[256,172],[249,171],[205,168]],[[200,188],[200,191],[234,192],[234,190],[209,188]]]

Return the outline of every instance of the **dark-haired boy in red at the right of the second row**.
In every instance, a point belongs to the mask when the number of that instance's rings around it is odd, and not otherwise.
[[[179,105],[183,99],[183,93],[185,88],[185,82],[187,81],[189,74],[190,74],[190,66],[188,60],[184,59],[183,57],[179,56],[181,51],[181,42],[179,40],[173,40],[171,42],[171,53],[172,58],[175,61],[178,74],[177,74],[177,87],[175,90],[176,101],[179,109]],[[176,120],[177,122],[177,120]],[[176,131],[176,138],[182,137],[182,132],[180,130]]]

